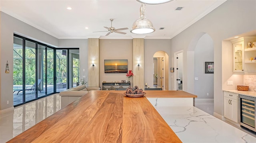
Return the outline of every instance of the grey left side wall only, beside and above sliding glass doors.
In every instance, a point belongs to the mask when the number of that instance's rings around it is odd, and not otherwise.
[[[19,35],[25,37],[33,37],[33,39],[36,39],[37,41],[44,41],[50,45],[58,45],[58,39],[35,27],[25,24],[4,12],[0,12],[0,18],[0,110],[3,110],[13,107],[13,34],[19,33]],[[9,74],[4,72],[6,61],[9,63]],[[7,104],[7,101],[9,101],[9,104]]]

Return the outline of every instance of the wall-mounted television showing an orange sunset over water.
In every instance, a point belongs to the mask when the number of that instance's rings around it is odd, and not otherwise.
[[[127,73],[128,60],[104,60],[105,73]]]

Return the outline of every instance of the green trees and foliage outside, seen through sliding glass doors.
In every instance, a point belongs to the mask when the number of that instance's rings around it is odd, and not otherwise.
[[[57,50],[58,51],[58,50]],[[33,85],[35,83],[36,77],[36,54],[34,48],[26,48],[25,50],[25,77],[26,77],[26,85]],[[38,54],[38,59],[43,60],[43,78],[45,78],[45,52]],[[67,72],[67,61],[66,56],[62,55],[60,52],[56,52],[56,76],[57,76],[57,83],[66,82]],[[39,60],[38,60],[39,61]],[[53,85],[54,84],[54,57],[53,57],[53,50],[47,51],[47,84]],[[79,60],[78,60],[79,61]],[[79,62],[74,63],[78,67]],[[40,66],[38,64],[38,66]],[[22,85],[22,49],[14,49],[13,52],[13,85]],[[38,68],[41,69],[41,68]],[[74,73],[75,74],[75,73]],[[76,73],[78,75],[78,73]],[[40,78],[40,77],[39,77]],[[45,84],[45,80],[43,80]],[[78,81],[77,81],[78,82]]]

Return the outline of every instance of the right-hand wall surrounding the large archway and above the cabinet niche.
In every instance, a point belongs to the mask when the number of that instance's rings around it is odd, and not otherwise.
[[[247,22],[250,20],[250,22]],[[200,33],[208,33],[213,39],[214,45],[214,114],[223,115],[222,97],[222,40],[256,29],[256,1],[254,0],[228,0],[218,8],[204,16],[180,34],[171,39],[172,58],[173,53],[184,49],[184,76],[187,80],[185,91],[194,86],[193,75],[190,75],[188,67],[193,65],[193,51],[189,47],[193,39]],[[188,59],[188,56],[190,59]],[[223,55],[224,56],[224,55]],[[197,67],[194,67],[197,68]],[[184,79],[185,78],[185,79]],[[190,85],[191,84],[191,85]],[[188,86],[189,85],[189,86]]]

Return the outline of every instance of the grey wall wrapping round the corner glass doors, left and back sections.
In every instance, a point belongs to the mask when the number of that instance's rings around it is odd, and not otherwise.
[[[0,12],[0,110],[13,107],[13,34],[40,41],[54,47],[80,48],[80,76],[83,69],[87,71],[88,41],[87,39],[57,39],[43,31],[36,29],[4,12]],[[6,61],[9,63],[10,73],[4,73]],[[85,73],[86,74],[86,73]],[[9,104],[7,104],[9,101]]]

